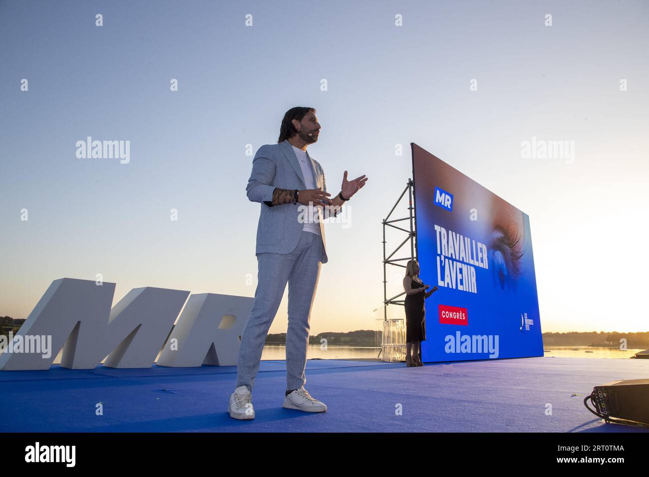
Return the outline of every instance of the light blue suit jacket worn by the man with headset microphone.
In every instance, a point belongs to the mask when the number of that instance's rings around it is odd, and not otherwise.
[[[311,163],[313,183],[316,188],[326,192],[324,171],[319,162],[306,153]],[[304,223],[298,221],[302,204],[278,204],[273,206],[273,191],[280,189],[306,189],[302,168],[297,160],[293,146],[288,140],[278,144],[265,144],[259,148],[252,159],[252,173],[245,190],[252,202],[261,202],[261,212],[257,225],[257,245],[255,254],[273,252],[288,254],[295,250],[302,234]],[[310,232],[308,232],[310,233]],[[324,223],[320,221],[323,240],[323,260],[328,262]]]

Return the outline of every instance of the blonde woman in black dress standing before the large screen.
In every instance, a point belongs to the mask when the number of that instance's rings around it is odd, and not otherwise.
[[[406,365],[423,366],[421,362],[421,342],[426,339],[426,308],[424,300],[432,295],[438,288],[433,287],[426,292],[430,285],[424,285],[419,278],[419,263],[409,260],[404,276],[404,290],[406,299]]]

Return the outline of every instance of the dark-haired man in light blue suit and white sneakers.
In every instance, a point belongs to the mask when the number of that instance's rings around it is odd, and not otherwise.
[[[311,308],[320,267],[328,262],[323,219],[336,216],[343,203],[365,185],[367,177],[347,180],[345,171],[340,193],[330,199],[322,166],[306,152],[319,134],[315,109],[291,108],[282,119],[278,143],[263,145],[252,160],[246,193],[248,199],[261,204],[255,251],[258,284],[241,334],[236,389],[228,402],[228,412],[235,419],[254,419],[252,385],[287,283],[283,406],[326,411],[326,405],[304,389]]]

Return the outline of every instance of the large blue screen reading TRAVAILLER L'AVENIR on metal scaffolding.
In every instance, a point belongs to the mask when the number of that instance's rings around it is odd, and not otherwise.
[[[422,361],[543,356],[530,217],[411,147],[419,277],[439,288]]]

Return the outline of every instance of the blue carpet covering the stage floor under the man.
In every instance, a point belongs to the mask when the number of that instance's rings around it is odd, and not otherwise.
[[[256,419],[227,403],[236,367],[0,371],[2,432],[648,432],[583,406],[594,385],[649,378],[649,360],[526,358],[433,363],[309,360],[326,413],[282,408],[284,361],[262,361]],[[95,406],[103,403],[103,415]],[[546,415],[546,404],[552,415]],[[395,415],[398,404],[402,415]]]

